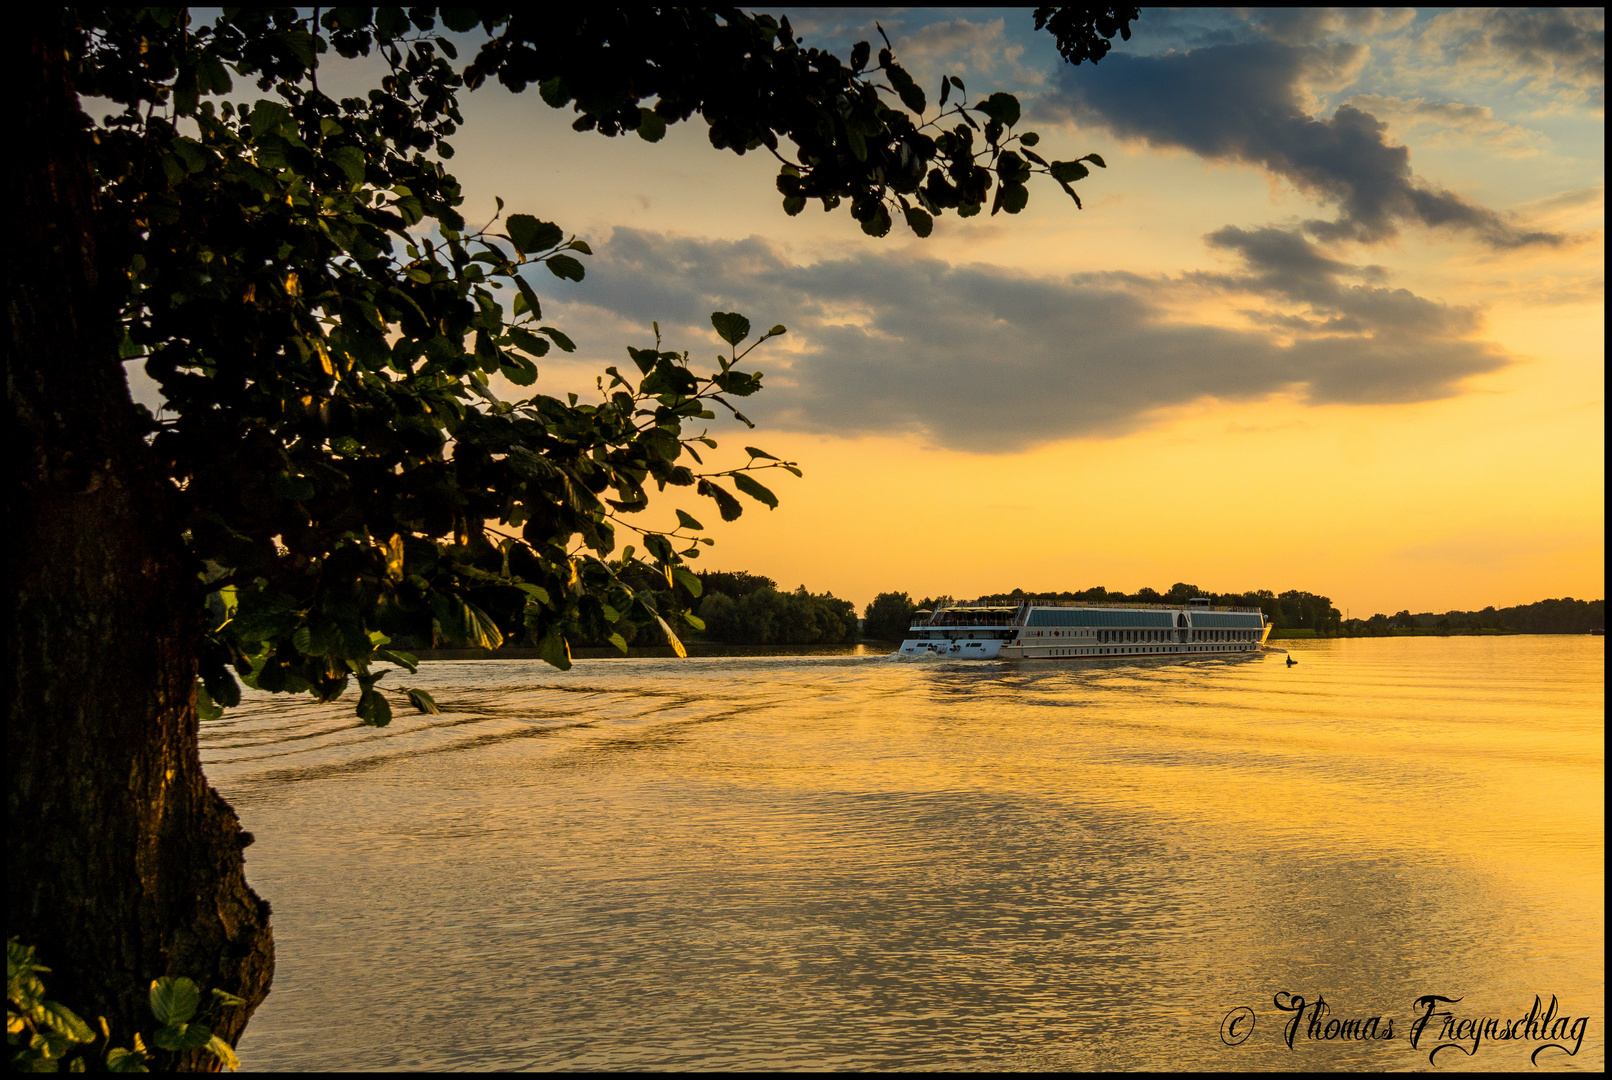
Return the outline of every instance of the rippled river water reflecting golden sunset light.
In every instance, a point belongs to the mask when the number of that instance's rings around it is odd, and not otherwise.
[[[1604,638],[1282,645],[429,663],[384,730],[250,695],[202,733],[274,906],[240,1057],[1602,1069]]]

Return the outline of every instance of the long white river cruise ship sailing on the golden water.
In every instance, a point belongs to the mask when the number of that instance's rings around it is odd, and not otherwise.
[[[919,611],[903,656],[953,659],[1117,659],[1257,653],[1270,637],[1259,608],[1185,604],[970,603]]]

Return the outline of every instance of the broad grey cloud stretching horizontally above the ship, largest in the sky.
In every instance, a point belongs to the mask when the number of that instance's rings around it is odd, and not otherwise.
[[[977,453],[1117,435],[1206,397],[1441,398],[1506,363],[1460,337],[1473,329],[1465,309],[1346,284],[1378,271],[1332,260],[1302,237],[1228,229],[1211,243],[1243,269],[1045,279],[877,251],[800,266],[758,239],[617,229],[577,298],[638,326],[680,324],[669,340],[709,335],[716,309],[783,322],[798,351],[762,353],[767,392],[753,416],[796,430],[920,434]],[[1290,322],[1183,322],[1165,308],[1183,292],[1241,297]]]

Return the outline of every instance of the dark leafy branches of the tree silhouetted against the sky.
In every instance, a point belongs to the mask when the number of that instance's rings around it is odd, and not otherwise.
[[[1062,11],[1074,15],[1054,27],[1088,37],[1093,19],[1112,23],[1093,39],[1101,52],[1135,18]],[[650,485],[693,487],[732,521],[738,495],[777,503],[756,472],[800,476],[754,447],[737,467],[701,456],[716,409],[748,422],[735,400],[761,374],[745,359],[785,332],[753,337],[737,313],[713,313],[729,345],[716,371],[693,371],[656,329],[629,348],[630,368],[606,369],[596,403],[498,397],[492,376],[534,387],[550,350],[574,348],[543,321],[530,274],[580,280],[590,250],[553,222],[505,216],[501,200],[467,222],[445,168],[466,89],[535,84],[548,105],[574,106],[579,131],[651,142],[700,113],[714,147],[779,156],[787,213],[846,201],[872,235],[898,214],[929,235],[935,216],[987,200],[1017,213],[1033,172],[1075,197],[1086,164],[1103,164],[1041,158],[1012,95],[970,105],[956,77],[925,121],[929,98],[888,39],[877,58],[862,42],[845,63],[806,48],[787,19],[737,10],[68,19],[77,90],[113,105],[92,132],[100,243],[123,356],[143,358],[166,400],[147,429],[206,598],[203,714],[239,701],[234,667],[253,687],[321,700],[356,680],[358,714],[385,724],[385,672],[371,666],[413,671],[387,648],[400,635],[521,638],[559,667],[569,640],[625,648],[627,627],[677,646],[679,621],[700,627],[687,563],[711,540],[687,513],[674,529],[634,524]],[[451,35],[477,29],[485,44],[459,66]],[[1069,48],[1101,55],[1083,39]],[[319,89],[330,53],[376,53],[387,74],[332,98]],[[619,529],[635,543],[617,551]],[[664,590],[643,588],[643,569]],[[424,690],[398,693],[435,709]]]

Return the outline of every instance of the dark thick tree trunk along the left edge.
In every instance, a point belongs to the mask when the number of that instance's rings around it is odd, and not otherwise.
[[[6,937],[39,949],[48,996],[113,1045],[156,1027],[147,988],[185,975],[269,993],[269,904],[197,748],[200,585],[118,359],[121,272],[97,263],[87,126],[56,8],[6,35],[19,79],[6,243],[11,538],[6,624]],[[156,1065],[216,1067],[206,1051]]]

